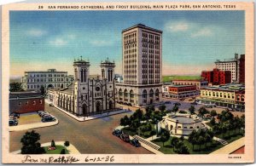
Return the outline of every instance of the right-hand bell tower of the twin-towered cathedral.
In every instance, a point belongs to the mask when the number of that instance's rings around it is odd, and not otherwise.
[[[101,69],[102,69],[102,74],[101,78],[102,79],[107,79],[108,82],[114,82],[114,61],[110,62],[108,59],[105,61],[102,61],[101,63]]]

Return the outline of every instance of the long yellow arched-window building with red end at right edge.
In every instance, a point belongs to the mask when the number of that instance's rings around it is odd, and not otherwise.
[[[243,84],[226,84],[201,89],[199,103],[215,104],[219,107],[245,108],[245,86]]]

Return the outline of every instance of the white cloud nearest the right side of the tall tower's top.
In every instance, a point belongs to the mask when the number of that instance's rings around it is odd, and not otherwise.
[[[166,24],[167,31],[188,31],[191,25],[188,21],[180,20]]]

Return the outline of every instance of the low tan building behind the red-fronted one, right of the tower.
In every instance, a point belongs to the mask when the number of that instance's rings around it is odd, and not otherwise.
[[[208,86],[208,81],[205,79],[200,80],[172,80],[172,83],[175,85],[195,85],[196,90],[200,90],[201,88]]]

